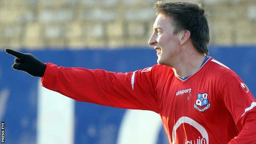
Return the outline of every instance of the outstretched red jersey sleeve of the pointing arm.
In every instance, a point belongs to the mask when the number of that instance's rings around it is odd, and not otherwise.
[[[157,69],[155,65],[129,73],[114,73],[46,63],[41,85],[77,101],[158,112]]]

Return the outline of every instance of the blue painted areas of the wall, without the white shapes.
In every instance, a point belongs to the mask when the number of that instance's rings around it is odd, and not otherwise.
[[[21,50],[32,53],[42,62],[52,62],[59,66],[105,69],[114,72],[129,72],[156,64],[157,56],[153,48],[120,50]],[[245,81],[256,96],[256,47],[211,46],[210,56],[233,69]],[[5,141],[7,144],[21,142],[35,143],[37,135],[37,82],[26,73],[11,68],[14,57],[0,52],[0,120],[5,121]],[[2,99],[1,99],[2,98]],[[81,111],[82,110],[82,111]],[[107,133],[110,142],[116,143],[117,133],[125,110],[103,107],[90,103],[75,102],[75,144],[101,144],[104,137],[91,137],[86,129],[94,125],[96,132],[105,126],[112,126]],[[158,144],[166,143],[163,131]],[[165,140],[163,140],[165,139]],[[102,143],[103,144],[103,143]]]

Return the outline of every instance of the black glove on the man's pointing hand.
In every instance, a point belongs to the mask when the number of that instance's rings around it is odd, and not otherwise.
[[[5,49],[5,52],[16,57],[16,59],[14,59],[15,63],[12,65],[12,68],[25,71],[33,76],[43,76],[46,70],[46,65],[43,64],[39,59],[35,58],[33,55],[21,53],[8,48]]]

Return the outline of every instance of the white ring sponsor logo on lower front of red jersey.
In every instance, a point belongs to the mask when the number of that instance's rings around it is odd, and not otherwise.
[[[206,129],[203,128],[203,126],[201,126],[199,123],[197,123],[196,121],[194,121],[193,119],[191,119],[189,117],[181,117],[175,123],[174,128],[172,130],[172,144],[175,144],[176,130],[178,129],[179,126],[181,126],[182,124],[185,124],[185,123],[189,124],[190,126],[193,126],[201,134],[201,137],[199,136],[197,139],[192,139],[192,140],[185,139],[185,144],[194,144],[194,143],[209,144],[209,137],[208,137],[208,133],[207,133]]]

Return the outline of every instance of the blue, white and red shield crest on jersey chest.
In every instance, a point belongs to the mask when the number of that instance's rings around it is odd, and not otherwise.
[[[210,103],[208,101],[207,93],[197,94],[197,100],[196,100],[196,103],[194,104],[194,108],[197,109],[199,112],[203,112],[203,111],[207,110],[208,108],[210,108]]]

